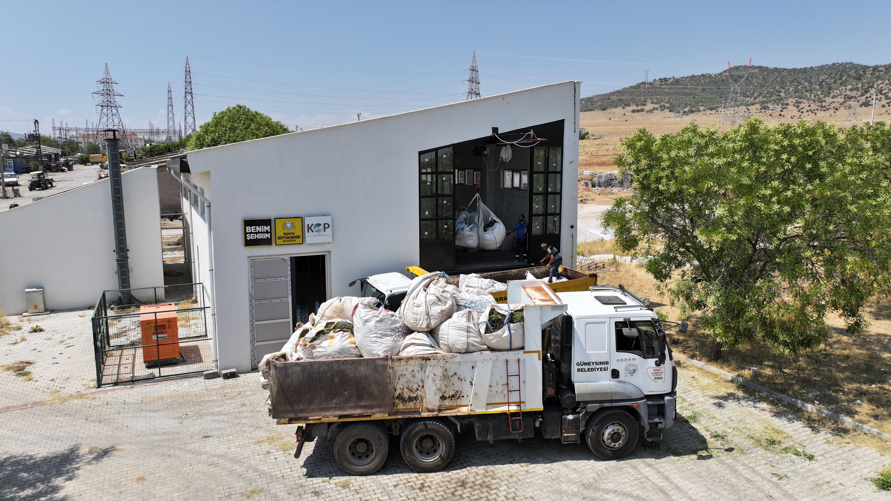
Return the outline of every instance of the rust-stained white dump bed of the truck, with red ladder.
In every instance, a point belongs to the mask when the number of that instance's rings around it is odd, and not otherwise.
[[[526,306],[521,350],[273,362],[269,415],[291,424],[541,410],[542,326],[562,311]]]

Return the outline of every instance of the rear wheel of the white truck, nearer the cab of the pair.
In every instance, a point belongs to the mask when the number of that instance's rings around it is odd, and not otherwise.
[[[438,472],[452,460],[454,433],[437,419],[418,419],[403,430],[400,449],[414,471]]]

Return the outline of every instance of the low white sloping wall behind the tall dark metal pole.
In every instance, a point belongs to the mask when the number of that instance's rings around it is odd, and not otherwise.
[[[164,285],[156,169],[122,175],[131,287]],[[108,179],[0,213],[0,309],[27,310],[25,289],[44,287],[46,308],[92,305],[118,288]]]

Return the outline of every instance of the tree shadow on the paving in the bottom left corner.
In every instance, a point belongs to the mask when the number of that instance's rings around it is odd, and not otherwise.
[[[0,457],[0,499],[67,499],[59,497],[65,482],[74,480],[85,465],[102,461],[114,446],[83,453],[80,446],[46,456],[12,454]]]

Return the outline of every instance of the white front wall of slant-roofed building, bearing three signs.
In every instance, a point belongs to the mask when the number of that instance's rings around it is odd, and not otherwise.
[[[578,83],[545,85],[391,117],[289,133],[188,153],[192,182],[213,205],[220,368],[250,369],[249,259],[328,254],[331,296],[374,273],[403,271],[419,256],[418,151],[564,122],[562,246],[576,259]],[[249,169],[263,182],[243,182]],[[210,173],[209,175],[207,173]],[[194,208],[190,212],[194,212]],[[245,247],[241,220],[331,215],[333,243]],[[207,283],[200,218],[192,217],[193,258]],[[511,222],[512,227],[512,222]],[[206,243],[203,244],[206,246]],[[200,257],[196,254],[200,254]],[[196,279],[198,276],[196,275]]]

